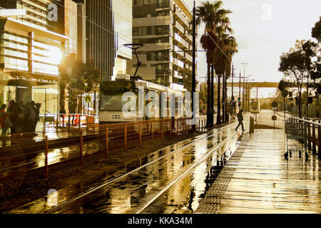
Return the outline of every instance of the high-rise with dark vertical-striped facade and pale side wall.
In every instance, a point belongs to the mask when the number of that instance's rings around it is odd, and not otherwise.
[[[132,54],[124,44],[132,43],[132,0],[75,1],[86,15],[86,61],[93,61],[104,81],[127,73]]]

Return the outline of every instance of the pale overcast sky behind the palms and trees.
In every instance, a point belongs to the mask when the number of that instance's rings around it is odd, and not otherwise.
[[[193,0],[184,1],[193,9]],[[196,6],[201,2],[196,0]],[[280,56],[295,41],[312,39],[311,30],[321,16],[320,0],[223,0],[223,8],[233,11],[229,17],[239,51],[233,57],[235,73],[239,76],[241,71],[243,76],[242,63],[248,63],[245,75],[254,81],[280,81],[283,77],[278,71]],[[203,26],[198,28],[198,35],[198,38],[203,35]],[[203,80],[205,60],[205,53],[199,52],[198,77]],[[265,97],[271,92],[260,89],[259,93]]]

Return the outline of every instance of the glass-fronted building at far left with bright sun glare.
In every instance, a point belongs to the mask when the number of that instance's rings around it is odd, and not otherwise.
[[[0,1],[1,103],[34,100],[41,113],[58,113],[58,64],[77,43],[76,14],[65,4],[76,6],[71,0]]]

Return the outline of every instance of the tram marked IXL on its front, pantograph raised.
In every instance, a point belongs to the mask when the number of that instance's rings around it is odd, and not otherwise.
[[[143,116],[138,115],[138,89],[143,88],[144,90],[144,98],[143,98]],[[116,81],[103,81],[100,85],[100,105],[99,105],[99,123],[100,124],[108,124],[108,123],[126,123],[126,122],[136,122],[142,120],[151,120],[151,119],[160,119],[162,118],[161,112],[161,94],[165,94],[167,96],[167,106],[165,112],[166,116],[171,116],[170,112],[170,103],[172,103],[172,99],[175,95],[175,118],[178,116],[178,112],[182,113],[184,108],[183,98],[185,94],[184,90],[175,90],[173,88],[169,88],[167,86],[161,86],[156,83],[151,83],[143,80],[116,80]],[[155,95],[155,98],[150,98],[149,100],[145,100],[145,95],[153,91],[157,93],[158,96]],[[123,98],[123,94],[126,92],[132,92],[136,95],[136,116],[126,116],[123,115],[123,105],[125,105],[128,100]],[[158,97],[158,99],[157,99]],[[146,115],[145,107],[148,103],[153,100],[155,107],[159,107],[159,115],[158,117],[148,117]],[[172,105],[173,107],[173,105]],[[163,107],[162,107],[163,108]],[[148,110],[153,112],[153,109]],[[157,111],[157,110],[156,110]]]

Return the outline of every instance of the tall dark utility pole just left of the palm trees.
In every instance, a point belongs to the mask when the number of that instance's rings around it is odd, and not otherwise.
[[[196,19],[195,19],[196,9],[195,9],[195,1],[194,1],[194,7],[193,7],[193,63],[192,63],[192,113],[193,113],[193,120],[195,120],[195,113],[196,110],[194,110],[195,100],[194,100],[194,93],[196,91],[196,76],[195,76],[195,58],[196,58]],[[195,130],[195,123],[192,125],[193,131]]]

